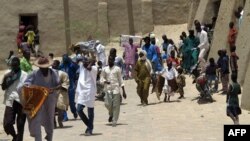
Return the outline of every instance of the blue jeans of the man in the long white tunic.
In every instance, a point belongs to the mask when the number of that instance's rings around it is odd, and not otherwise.
[[[84,114],[83,109],[85,108],[84,105],[77,104],[77,113],[80,116],[81,120],[84,122],[84,124],[87,126],[87,131],[90,131],[92,133],[94,125],[94,107],[90,108],[88,107],[88,117]]]

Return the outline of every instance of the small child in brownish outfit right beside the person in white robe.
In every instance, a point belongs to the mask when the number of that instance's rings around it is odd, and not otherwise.
[[[182,98],[184,98],[184,89],[183,88],[186,86],[186,81],[185,81],[186,77],[182,74],[183,69],[181,67],[178,67],[177,71],[178,71],[178,76],[176,78],[176,82],[178,85],[177,92],[180,93],[180,97],[178,99],[182,99]]]

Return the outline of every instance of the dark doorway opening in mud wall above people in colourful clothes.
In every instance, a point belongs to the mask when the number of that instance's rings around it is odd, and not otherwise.
[[[27,27],[28,25],[33,25],[34,30],[38,29],[38,16],[36,13],[34,14],[19,14],[19,23],[23,22],[23,24]]]

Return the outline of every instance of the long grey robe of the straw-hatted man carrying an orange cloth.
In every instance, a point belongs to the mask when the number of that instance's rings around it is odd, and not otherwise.
[[[28,75],[24,84],[47,88],[57,87],[60,84],[58,73],[53,69],[49,69],[48,75],[48,80],[46,81],[41,70],[35,70]],[[42,141],[41,126],[45,128],[48,141],[52,141],[56,102],[57,93],[54,91],[48,95],[36,116],[32,119],[28,118],[30,135],[35,137],[35,141]]]

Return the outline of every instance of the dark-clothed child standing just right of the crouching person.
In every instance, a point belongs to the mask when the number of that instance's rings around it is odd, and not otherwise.
[[[208,84],[211,85],[214,81],[213,92],[218,91],[218,78],[216,75],[217,65],[215,64],[214,58],[209,58],[209,65],[206,67],[206,76]]]

